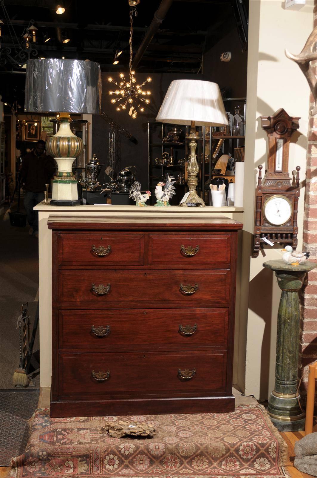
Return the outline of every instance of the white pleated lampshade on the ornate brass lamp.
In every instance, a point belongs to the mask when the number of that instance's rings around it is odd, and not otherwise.
[[[174,80],[169,85],[156,120],[161,123],[196,126],[228,124],[217,83],[203,80]]]

